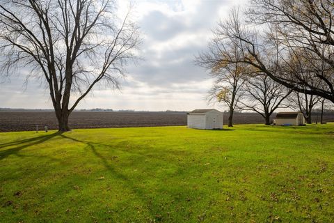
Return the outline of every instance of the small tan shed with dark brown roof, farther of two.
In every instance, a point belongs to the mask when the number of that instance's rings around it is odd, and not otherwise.
[[[305,118],[301,112],[278,112],[276,125],[305,125]]]

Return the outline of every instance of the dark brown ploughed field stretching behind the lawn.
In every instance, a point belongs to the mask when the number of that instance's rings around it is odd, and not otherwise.
[[[313,114],[316,118],[317,114]],[[228,120],[228,114],[224,114]],[[314,120],[315,121],[315,120]],[[334,114],[325,114],[324,121],[333,122]],[[263,123],[262,116],[255,113],[234,114],[235,124]],[[70,128],[119,128],[139,126],[186,125],[185,112],[72,112]],[[0,112],[0,132],[34,131],[38,125],[44,130],[57,129],[54,112]]]

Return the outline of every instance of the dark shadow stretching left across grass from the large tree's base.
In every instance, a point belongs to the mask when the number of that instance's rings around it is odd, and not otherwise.
[[[55,132],[53,134],[47,134],[47,135],[43,135],[40,137],[35,137],[35,138],[29,138],[29,139],[23,139],[23,140],[19,140],[19,141],[12,141],[12,142],[8,142],[6,144],[0,144],[0,148],[6,148],[6,147],[11,147],[11,146],[15,146],[14,148],[8,148],[6,150],[1,150],[0,151],[0,160],[3,160],[4,158],[8,157],[9,155],[13,155],[16,154],[21,151],[24,148],[30,147],[30,146],[35,146],[38,144],[42,144],[43,142],[56,137],[58,134],[58,132]]]

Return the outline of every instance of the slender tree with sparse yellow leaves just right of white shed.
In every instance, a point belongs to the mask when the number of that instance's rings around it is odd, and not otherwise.
[[[214,38],[209,43],[207,52],[202,52],[196,57],[196,63],[210,70],[214,78],[214,86],[209,91],[209,101],[224,102],[229,108],[229,127],[233,126],[233,113],[241,100],[240,90],[244,84],[244,76],[248,73],[248,66],[244,63],[224,62],[225,58],[238,61],[242,57],[237,44],[225,45],[223,35],[230,26],[235,25],[234,21],[238,16],[238,11],[234,10],[227,22],[219,22],[218,27],[213,31]]]

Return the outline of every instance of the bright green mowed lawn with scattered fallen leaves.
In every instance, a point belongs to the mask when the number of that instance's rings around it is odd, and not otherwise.
[[[0,222],[333,219],[333,124],[0,134]]]

